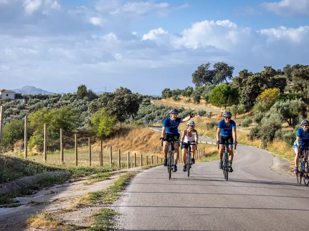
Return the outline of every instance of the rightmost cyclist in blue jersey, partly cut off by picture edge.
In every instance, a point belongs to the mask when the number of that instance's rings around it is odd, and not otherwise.
[[[293,145],[293,149],[295,152],[295,166],[294,166],[294,172],[297,173],[297,164],[299,161],[299,148],[306,148],[306,146],[309,146],[309,121],[308,120],[302,120],[302,122],[300,122],[300,125],[302,126],[302,128],[299,128],[297,130],[297,134],[296,134],[296,140],[294,142]],[[307,156],[308,158],[308,156]],[[309,179],[308,174],[306,175],[306,179]]]

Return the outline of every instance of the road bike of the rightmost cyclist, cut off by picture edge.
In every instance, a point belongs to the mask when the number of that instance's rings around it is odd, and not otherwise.
[[[298,153],[300,153],[300,158],[297,164],[297,183],[300,184],[302,182],[302,177],[304,178],[304,184],[308,186],[309,179],[306,179],[306,175],[309,173],[309,160],[308,160],[308,147],[306,148],[298,148]]]

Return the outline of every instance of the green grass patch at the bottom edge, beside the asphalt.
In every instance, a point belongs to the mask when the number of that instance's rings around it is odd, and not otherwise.
[[[114,210],[109,208],[99,209],[95,214],[91,216],[95,221],[91,228],[87,231],[99,231],[99,230],[114,230],[114,217],[119,215]]]

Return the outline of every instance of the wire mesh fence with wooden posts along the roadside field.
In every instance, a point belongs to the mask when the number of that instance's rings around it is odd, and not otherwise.
[[[63,131],[61,142],[61,131],[48,127],[46,127],[46,136],[44,140],[44,125],[36,127],[27,126],[27,131],[25,133],[24,121],[25,120],[13,120],[2,126],[0,153],[9,156],[24,156],[28,160],[45,162],[47,164],[66,164],[72,166],[76,164],[78,166],[103,166],[109,164],[115,168],[128,167],[127,152],[123,153],[119,149],[106,146],[100,141],[79,137],[66,131]],[[27,136],[26,140],[25,136]],[[44,151],[44,143],[46,144],[46,151]],[[27,145],[26,150],[25,144]],[[61,144],[63,147],[63,161],[61,161]],[[44,160],[45,152],[46,159]],[[148,162],[146,159],[148,159]],[[160,157],[158,157],[158,162],[156,160],[157,156],[153,156],[152,163],[162,162]],[[129,153],[129,168],[134,166],[145,166],[147,164],[151,164],[151,156],[144,155],[141,161],[141,154],[136,155],[135,153]]]

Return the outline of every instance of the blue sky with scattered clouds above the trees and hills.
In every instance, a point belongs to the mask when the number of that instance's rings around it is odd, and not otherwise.
[[[309,64],[309,0],[0,0],[0,88],[193,86],[202,63]]]

